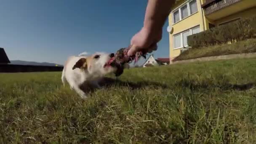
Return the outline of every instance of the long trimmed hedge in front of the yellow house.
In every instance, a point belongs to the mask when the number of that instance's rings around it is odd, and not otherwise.
[[[221,25],[187,37],[192,48],[220,45],[256,36],[256,16]]]

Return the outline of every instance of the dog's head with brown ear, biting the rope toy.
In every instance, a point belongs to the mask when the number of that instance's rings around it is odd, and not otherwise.
[[[72,69],[79,68],[93,75],[93,77],[102,77],[117,70],[115,66],[109,64],[112,57],[114,57],[114,53],[94,53],[80,58]]]

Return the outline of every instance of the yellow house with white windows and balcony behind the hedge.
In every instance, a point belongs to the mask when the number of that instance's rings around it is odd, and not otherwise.
[[[189,48],[187,36],[256,15],[256,0],[179,0],[169,14],[170,61]]]

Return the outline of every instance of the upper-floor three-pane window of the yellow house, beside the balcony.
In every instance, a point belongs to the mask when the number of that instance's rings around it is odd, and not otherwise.
[[[196,13],[197,11],[197,0],[188,0],[187,3],[173,11],[173,24],[181,21],[182,19],[185,19],[186,17]]]

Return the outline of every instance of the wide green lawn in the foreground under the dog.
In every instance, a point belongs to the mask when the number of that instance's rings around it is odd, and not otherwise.
[[[0,74],[0,143],[256,143],[256,59],[128,69],[85,101],[60,77]]]

